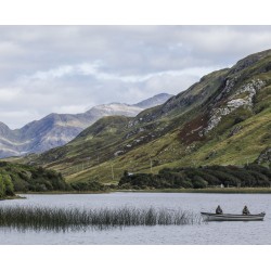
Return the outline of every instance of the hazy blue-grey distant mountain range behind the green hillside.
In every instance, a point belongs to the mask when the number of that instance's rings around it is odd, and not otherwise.
[[[163,93],[162,96],[147,99],[139,105],[102,104],[82,114],[53,113],[15,130],[0,122],[0,158],[41,153],[64,145],[102,117],[115,115],[134,117],[143,108],[164,103],[170,96]]]

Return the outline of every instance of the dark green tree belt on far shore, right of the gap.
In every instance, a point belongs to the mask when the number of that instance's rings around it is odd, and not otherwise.
[[[120,189],[204,189],[225,188],[270,188],[271,169],[250,164],[237,166],[206,166],[164,168],[157,175],[125,171]]]

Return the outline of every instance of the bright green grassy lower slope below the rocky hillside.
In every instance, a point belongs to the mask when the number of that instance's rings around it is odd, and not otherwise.
[[[129,152],[125,157],[117,157],[76,175],[68,176],[69,181],[87,180],[90,177],[103,182],[112,182],[112,165],[115,180],[118,180],[124,170],[131,172],[158,172],[164,167],[203,166],[203,165],[244,165],[254,162],[260,152],[271,145],[271,138],[264,140],[270,130],[271,112],[267,111],[244,121],[242,132],[228,138],[228,131],[219,139],[214,139],[196,152],[185,155],[183,145],[178,141],[178,132],[167,134],[162,139]],[[256,144],[251,142],[257,142]],[[163,146],[166,146],[163,149]],[[162,150],[162,151],[160,151]],[[206,159],[216,150],[214,157]],[[150,155],[150,156],[149,156]],[[158,166],[155,166],[156,162]]]

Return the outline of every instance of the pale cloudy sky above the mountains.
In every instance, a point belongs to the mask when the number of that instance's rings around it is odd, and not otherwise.
[[[177,94],[271,49],[271,26],[0,26],[0,121]]]

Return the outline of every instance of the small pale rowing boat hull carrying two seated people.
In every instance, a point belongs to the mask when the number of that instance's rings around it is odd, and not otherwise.
[[[201,212],[205,221],[262,221],[266,212],[258,215],[233,215],[233,214],[212,214]]]

